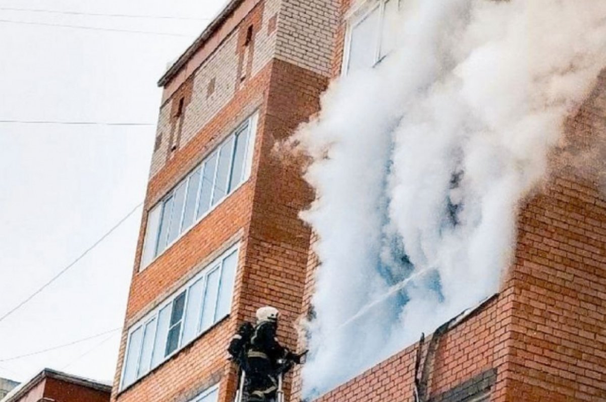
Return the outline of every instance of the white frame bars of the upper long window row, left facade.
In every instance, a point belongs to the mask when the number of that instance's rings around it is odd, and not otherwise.
[[[211,150],[207,156],[202,160],[202,162],[198,163],[198,165],[195,166],[195,168],[193,168],[191,171],[189,171],[185,177],[182,180],[179,180],[179,182],[170,189],[170,191],[168,191],[167,194],[165,194],[164,197],[162,197],[162,199],[160,199],[158,202],[155,203],[155,205],[153,205],[153,208],[150,208],[147,213],[145,214],[145,219],[147,220],[151,211],[153,211],[153,209],[155,209],[156,207],[159,206],[159,208],[164,209],[164,202],[168,199],[170,199],[170,197],[175,197],[176,194],[176,189],[179,188],[179,186],[184,185],[185,186],[185,194],[184,194],[184,200],[183,200],[183,206],[182,206],[182,211],[181,211],[181,217],[180,222],[179,222],[179,234],[177,237],[175,237],[174,240],[172,240],[170,243],[167,243],[167,245],[164,247],[164,249],[162,249],[162,251],[158,252],[158,242],[159,242],[159,237],[162,233],[162,218],[164,217],[164,211],[160,211],[160,216],[158,219],[158,230],[156,232],[156,236],[154,239],[147,239],[147,231],[150,229],[147,226],[145,227],[145,234],[144,234],[144,243],[143,246],[141,248],[141,254],[140,254],[140,263],[139,263],[139,272],[144,271],[145,268],[147,268],[148,266],[150,266],[153,262],[155,262],[155,260],[157,260],[162,254],[164,254],[168,249],[171,248],[171,246],[173,246],[175,243],[179,242],[179,240],[181,239],[181,237],[185,236],[185,234],[187,234],[192,228],[194,228],[196,225],[198,225],[199,222],[201,222],[201,220],[203,220],[205,217],[208,216],[208,214],[210,214],[211,212],[213,212],[215,210],[215,208],[218,208],[219,205],[221,205],[225,199],[227,199],[228,197],[231,196],[231,194],[235,193],[236,191],[238,191],[238,189],[243,186],[246,182],[248,182],[248,179],[250,179],[250,174],[252,171],[252,165],[253,165],[253,157],[255,156],[255,142],[256,142],[256,134],[257,134],[257,125],[259,122],[259,112],[255,111],[255,113],[251,114],[250,116],[248,116],[246,119],[244,119],[244,122],[242,122],[241,124],[238,125],[238,127],[236,127],[235,130],[231,131],[230,134],[225,137],[224,140],[221,141],[221,143],[219,143],[215,148],[213,148],[213,150]],[[213,204],[213,197],[215,196],[215,183],[213,183],[213,186],[211,188],[211,193],[210,193],[210,208],[208,208],[208,211],[206,211],[204,214],[202,214],[201,216],[198,217],[198,210],[200,208],[200,196],[201,196],[201,189],[202,189],[202,185],[201,183],[204,180],[204,167],[205,167],[205,163],[207,162],[207,159],[212,156],[214,153],[217,153],[217,158],[216,158],[216,164],[215,165],[215,180],[216,180],[216,176],[217,176],[217,166],[219,163],[219,150],[221,149],[221,147],[227,143],[230,139],[235,138],[236,135],[241,134],[244,132],[244,130],[248,130],[248,141],[247,141],[247,147],[245,150],[245,154],[244,154],[244,166],[242,166],[242,180],[241,182],[238,183],[238,185],[236,185],[234,188],[232,189],[225,189],[225,195],[222,196],[220,199],[216,200],[216,202]],[[230,168],[229,171],[231,172],[231,170],[233,169],[233,153],[235,153],[236,151],[236,143],[234,142],[234,146],[232,151],[232,157],[231,157],[231,162],[230,162]],[[183,226],[183,220],[185,217],[185,206],[187,204],[187,193],[189,190],[189,186],[190,186],[190,177],[193,176],[193,174],[195,173],[196,170],[198,170],[198,168],[200,168],[200,182],[198,183],[198,193],[196,194],[196,205],[194,207],[194,213],[193,213],[193,220],[190,223],[190,226],[187,229],[184,229]],[[228,183],[228,186],[231,183]],[[171,205],[171,215],[172,215],[172,209],[174,208],[175,202],[173,199],[173,203]],[[171,216],[170,222],[167,223],[168,228],[170,228],[171,226],[171,221],[172,221],[173,217]],[[167,232],[167,235],[170,234]],[[152,241],[154,242],[154,251],[153,251],[153,255],[154,257],[151,258],[150,260],[146,261],[144,260],[144,255],[145,255],[145,248],[148,246],[147,242],[148,241]]]

